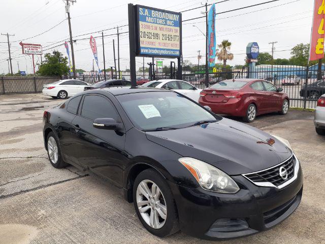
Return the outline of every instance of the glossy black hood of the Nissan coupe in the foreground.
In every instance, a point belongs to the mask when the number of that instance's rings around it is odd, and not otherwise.
[[[226,118],[201,126],[146,132],[146,136],[183,157],[199,159],[230,175],[272,167],[292,154],[273,136]]]

